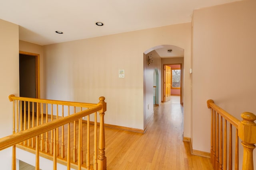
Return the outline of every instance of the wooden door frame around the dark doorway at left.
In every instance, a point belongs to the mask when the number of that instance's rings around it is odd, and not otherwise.
[[[40,99],[40,55],[19,51],[19,54],[30,55],[36,57],[36,98]]]

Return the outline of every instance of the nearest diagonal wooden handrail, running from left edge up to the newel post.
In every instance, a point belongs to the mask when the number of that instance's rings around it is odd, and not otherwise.
[[[3,137],[0,139],[0,150],[6,149],[8,147],[12,147],[13,145],[16,145],[20,142],[23,142],[25,140],[28,140],[32,137],[41,135],[42,133],[45,133],[47,131],[50,131],[52,129],[55,129],[57,127],[60,127],[62,125],[65,125],[67,123],[70,123],[72,121],[75,121],[77,119],[80,119],[84,116],[90,115],[91,113],[95,113],[96,111],[101,110],[101,106],[96,106],[91,109],[87,109],[84,111],[80,111],[76,114],[69,115],[66,117],[62,117],[60,119],[56,119],[54,121],[50,121],[48,123],[38,125],[36,127],[26,129],[24,131],[20,131],[18,133],[14,133],[12,135]]]

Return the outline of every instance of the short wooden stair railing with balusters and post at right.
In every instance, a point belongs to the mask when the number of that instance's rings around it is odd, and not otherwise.
[[[256,115],[250,112],[241,114],[242,121],[226,112],[213,100],[207,101],[212,110],[211,117],[211,162],[214,170],[232,170],[239,168],[238,137],[242,140],[244,148],[242,170],[253,170],[253,150],[256,144]],[[224,124],[223,124],[224,122]],[[232,128],[235,129],[235,149],[232,148]],[[235,150],[232,162],[232,150]]]

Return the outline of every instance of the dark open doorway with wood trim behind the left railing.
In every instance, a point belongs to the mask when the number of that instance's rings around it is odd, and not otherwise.
[[[39,54],[20,51],[20,97],[40,98]]]

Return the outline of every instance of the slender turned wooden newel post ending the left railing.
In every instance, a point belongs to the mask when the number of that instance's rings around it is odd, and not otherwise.
[[[107,169],[107,158],[105,156],[105,129],[104,129],[104,115],[107,109],[107,103],[104,101],[105,97],[99,98],[100,102],[98,105],[102,105],[100,110],[100,135],[99,135],[99,157],[98,157],[98,168],[99,170]]]

